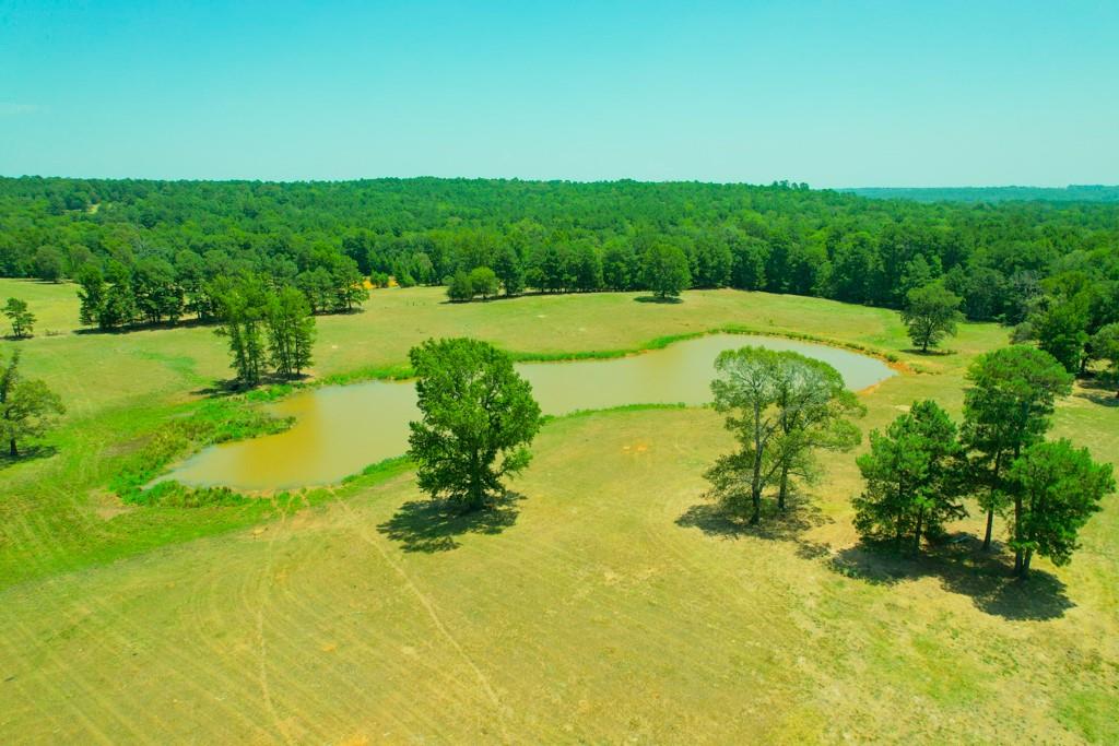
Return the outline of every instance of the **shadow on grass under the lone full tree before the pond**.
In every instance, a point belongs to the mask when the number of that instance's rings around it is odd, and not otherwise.
[[[377,530],[393,541],[399,541],[404,551],[450,551],[460,546],[455,537],[463,533],[500,533],[517,522],[520,509],[517,503],[525,497],[506,491],[489,506],[469,513],[460,513],[443,500],[413,500]]]

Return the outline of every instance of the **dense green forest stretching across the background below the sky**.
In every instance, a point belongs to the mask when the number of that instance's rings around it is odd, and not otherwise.
[[[250,275],[322,313],[352,308],[365,278],[473,273],[483,296],[657,290],[647,257],[679,255],[692,287],[901,308],[937,282],[969,319],[1028,320],[1023,336],[1070,314],[1085,339],[1119,321],[1116,204],[925,204],[787,182],[0,179],[0,274],[74,278],[83,322],[103,328],[213,318]]]

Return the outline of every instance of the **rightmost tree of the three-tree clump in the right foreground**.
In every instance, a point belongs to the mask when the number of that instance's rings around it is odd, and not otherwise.
[[[1094,463],[1088,448],[1074,448],[1066,440],[1026,448],[1010,468],[1009,481],[1021,494],[1010,546],[1022,555],[1015,563],[1022,577],[1035,551],[1066,565],[1078,547],[1076,533],[1116,489],[1111,464]]]

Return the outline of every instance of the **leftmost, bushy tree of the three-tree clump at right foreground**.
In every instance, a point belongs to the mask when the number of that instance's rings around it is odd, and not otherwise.
[[[871,433],[871,451],[858,457],[866,489],[855,498],[855,529],[864,539],[908,539],[913,553],[921,538],[966,514],[953,502],[950,474],[960,453],[956,424],[930,400],[915,402],[886,433]]]

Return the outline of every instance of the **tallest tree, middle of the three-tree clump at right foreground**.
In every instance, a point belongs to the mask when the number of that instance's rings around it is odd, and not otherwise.
[[[1012,498],[1005,472],[1045,436],[1056,397],[1072,390],[1072,376],[1049,352],[1016,344],[977,358],[967,378],[961,442],[972,454],[972,490],[987,511],[982,548],[989,549],[995,511]]]

